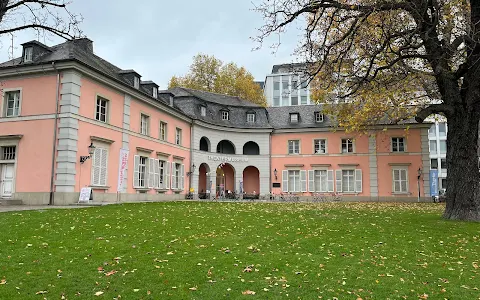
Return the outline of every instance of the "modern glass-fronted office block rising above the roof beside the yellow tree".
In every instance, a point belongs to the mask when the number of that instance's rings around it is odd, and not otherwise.
[[[305,64],[273,66],[263,87],[268,106],[311,104],[310,87],[302,75],[304,69]]]

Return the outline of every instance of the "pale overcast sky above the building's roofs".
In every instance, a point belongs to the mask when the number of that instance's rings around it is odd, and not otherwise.
[[[122,69],[134,69],[142,80],[166,88],[172,75],[184,75],[197,53],[245,66],[264,80],[272,65],[296,61],[292,56],[298,32],[288,32],[276,54],[269,48],[252,51],[250,37],[263,24],[253,3],[260,0],[73,0],[70,10],[84,17],[81,28],[93,40],[97,55]],[[36,39],[32,31],[15,34],[14,55],[21,43]],[[0,37],[0,60],[11,56],[10,35]],[[62,40],[40,40],[49,46]]]

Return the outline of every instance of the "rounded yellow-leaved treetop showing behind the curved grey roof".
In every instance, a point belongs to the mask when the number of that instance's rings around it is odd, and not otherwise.
[[[197,54],[190,71],[182,77],[173,76],[168,88],[181,86],[207,92],[238,96],[266,106],[265,96],[250,72],[231,62],[224,64],[214,56]]]

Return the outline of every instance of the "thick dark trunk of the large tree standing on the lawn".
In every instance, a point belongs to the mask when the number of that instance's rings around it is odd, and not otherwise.
[[[445,219],[480,221],[479,121],[475,109],[461,105],[448,118]]]

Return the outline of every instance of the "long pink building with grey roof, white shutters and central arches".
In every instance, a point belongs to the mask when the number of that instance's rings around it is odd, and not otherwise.
[[[416,199],[417,183],[429,195],[428,176],[417,180],[429,170],[429,125],[355,137],[332,132],[317,106],[159,91],[88,39],[22,46],[0,64],[0,201],[75,203],[82,187],[96,202],[184,199],[190,189]]]

